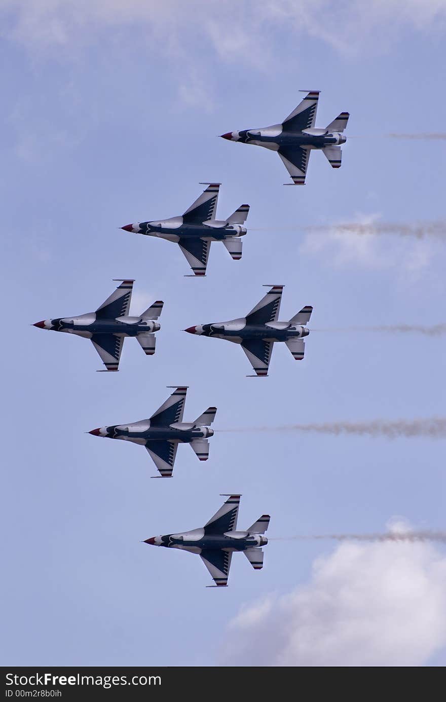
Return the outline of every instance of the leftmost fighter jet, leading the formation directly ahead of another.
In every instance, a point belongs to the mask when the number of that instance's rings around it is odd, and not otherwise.
[[[126,336],[134,336],[145,355],[152,356],[155,353],[154,332],[160,329],[155,319],[158,319],[161,314],[164,303],[157,300],[138,317],[129,317],[133,282],[133,280],[122,280],[96,312],[80,314],[78,317],[44,319],[43,322],[36,322],[34,326],[40,329],[65,331],[90,339],[107,371],[118,370]]]

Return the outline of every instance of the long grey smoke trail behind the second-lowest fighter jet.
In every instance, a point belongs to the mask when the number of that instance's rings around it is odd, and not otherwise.
[[[314,424],[289,424],[279,427],[235,427],[220,429],[223,432],[317,432],[318,434],[331,434],[339,436],[349,434],[355,436],[387,437],[398,439],[400,437],[428,437],[431,439],[446,439],[446,417],[430,417],[422,419],[375,419],[369,422],[324,422]]]

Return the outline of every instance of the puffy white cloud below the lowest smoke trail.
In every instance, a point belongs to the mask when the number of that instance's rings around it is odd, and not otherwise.
[[[220,663],[424,665],[446,644],[445,585],[446,557],[431,544],[342,543],[307,585],[241,609]]]

